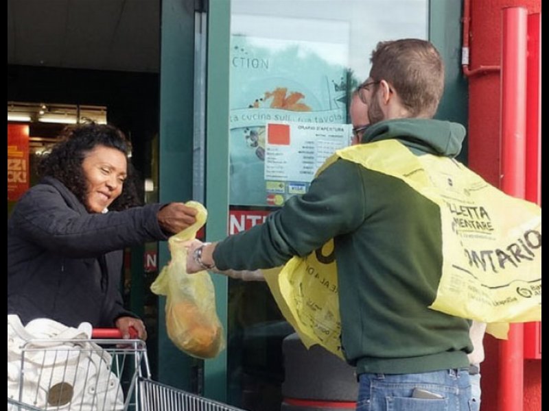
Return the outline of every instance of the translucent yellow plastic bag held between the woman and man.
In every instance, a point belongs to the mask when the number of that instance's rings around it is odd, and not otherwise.
[[[187,274],[187,249],[207,219],[207,211],[196,201],[186,203],[198,210],[196,223],[170,237],[172,260],[150,289],[166,298],[166,329],[181,351],[196,358],[213,358],[224,349],[223,327],[215,312],[215,291],[209,273]]]

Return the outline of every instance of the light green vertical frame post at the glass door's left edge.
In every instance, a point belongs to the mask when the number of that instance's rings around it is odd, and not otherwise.
[[[206,108],[207,239],[227,235],[229,211],[229,42],[231,8],[228,0],[211,0],[208,10]],[[227,329],[227,278],[212,275],[218,315]],[[205,361],[205,396],[226,401],[226,350]]]

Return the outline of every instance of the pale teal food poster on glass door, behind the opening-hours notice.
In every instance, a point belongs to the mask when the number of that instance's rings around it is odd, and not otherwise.
[[[331,57],[327,57],[326,50]],[[266,126],[347,123],[346,50],[340,43],[231,37],[229,203],[232,206],[281,206],[292,195],[307,190],[310,179],[284,179],[266,172],[266,164],[273,165],[275,161],[271,156],[266,163]],[[351,130],[345,132],[350,137]],[[346,140],[345,145],[348,143]],[[298,145],[286,148],[289,152],[299,150]],[[307,159],[301,157],[301,160]],[[314,171],[311,169],[309,174]]]

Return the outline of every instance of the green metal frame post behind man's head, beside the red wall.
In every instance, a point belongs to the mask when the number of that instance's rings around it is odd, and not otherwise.
[[[461,16],[463,1],[432,0],[430,2],[429,38],[439,49],[445,62],[444,96],[436,118],[455,121],[467,127],[469,93],[467,78],[461,71]],[[467,161],[467,138],[458,156]]]

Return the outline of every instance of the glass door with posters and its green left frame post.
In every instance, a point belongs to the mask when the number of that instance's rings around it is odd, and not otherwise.
[[[211,1],[208,240],[259,224],[305,192],[324,158],[349,145],[349,97],[377,42],[428,38],[428,21],[428,0]],[[274,150],[281,142],[288,147]],[[214,277],[228,338],[226,353],[205,362],[205,393],[278,411],[282,340],[293,329],[264,282]]]

